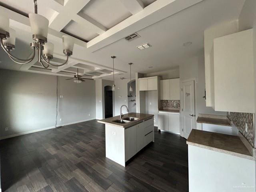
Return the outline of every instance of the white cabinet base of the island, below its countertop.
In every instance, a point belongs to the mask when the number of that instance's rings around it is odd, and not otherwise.
[[[147,144],[154,142],[154,116],[128,128],[108,123],[105,129],[106,157],[122,166]]]

